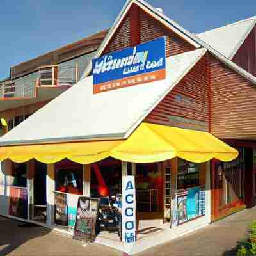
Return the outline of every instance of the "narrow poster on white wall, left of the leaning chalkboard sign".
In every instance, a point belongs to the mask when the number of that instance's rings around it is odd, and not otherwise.
[[[54,205],[55,205],[54,223],[61,226],[67,226],[68,225],[67,194],[55,192]]]

